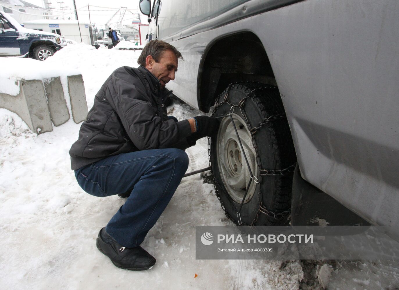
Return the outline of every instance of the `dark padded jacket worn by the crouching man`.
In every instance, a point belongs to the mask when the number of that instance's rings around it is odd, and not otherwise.
[[[120,153],[189,147],[188,120],[168,120],[163,101],[170,93],[145,67],[115,70],[96,94],[69,150],[72,170]]]

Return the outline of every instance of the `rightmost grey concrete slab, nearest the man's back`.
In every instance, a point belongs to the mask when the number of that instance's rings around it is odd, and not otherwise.
[[[85,121],[89,110],[87,109],[85,85],[81,74],[68,76],[68,90],[73,121],[75,123]]]

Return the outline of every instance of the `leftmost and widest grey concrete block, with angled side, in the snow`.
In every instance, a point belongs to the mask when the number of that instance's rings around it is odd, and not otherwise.
[[[53,130],[41,80],[21,80],[17,96],[0,94],[0,107],[16,113],[35,133]]]

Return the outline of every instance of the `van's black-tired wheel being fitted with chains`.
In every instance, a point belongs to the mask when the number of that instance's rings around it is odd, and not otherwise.
[[[245,97],[240,109],[236,105]],[[214,117],[233,111],[231,117],[221,118],[209,149],[216,194],[226,216],[244,225],[288,224],[296,155],[278,88],[254,82],[231,84],[219,95],[217,104]],[[237,210],[251,178],[231,118],[253,176],[259,180],[251,181],[240,216]],[[259,127],[267,119],[270,121]],[[259,129],[252,133],[251,128],[255,127]]]

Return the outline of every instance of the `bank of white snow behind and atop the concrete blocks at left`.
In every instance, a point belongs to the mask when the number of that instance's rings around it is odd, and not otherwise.
[[[82,74],[85,82],[86,95],[93,92],[88,99],[89,108],[93,106],[94,95],[101,84],[115,69],[127,65],[137,67],[137,58],[141,51],[117,51],[79,43],[67,45],[45,61],[18,57],[0,58],[0,93],[16,96],[19,93],[18,80],[52,78],[61,76],[64,92],[67,91],[66,77]],[[93,63],[92,63],[93,62]],[[87,79],[92,81],[86,82]]]

